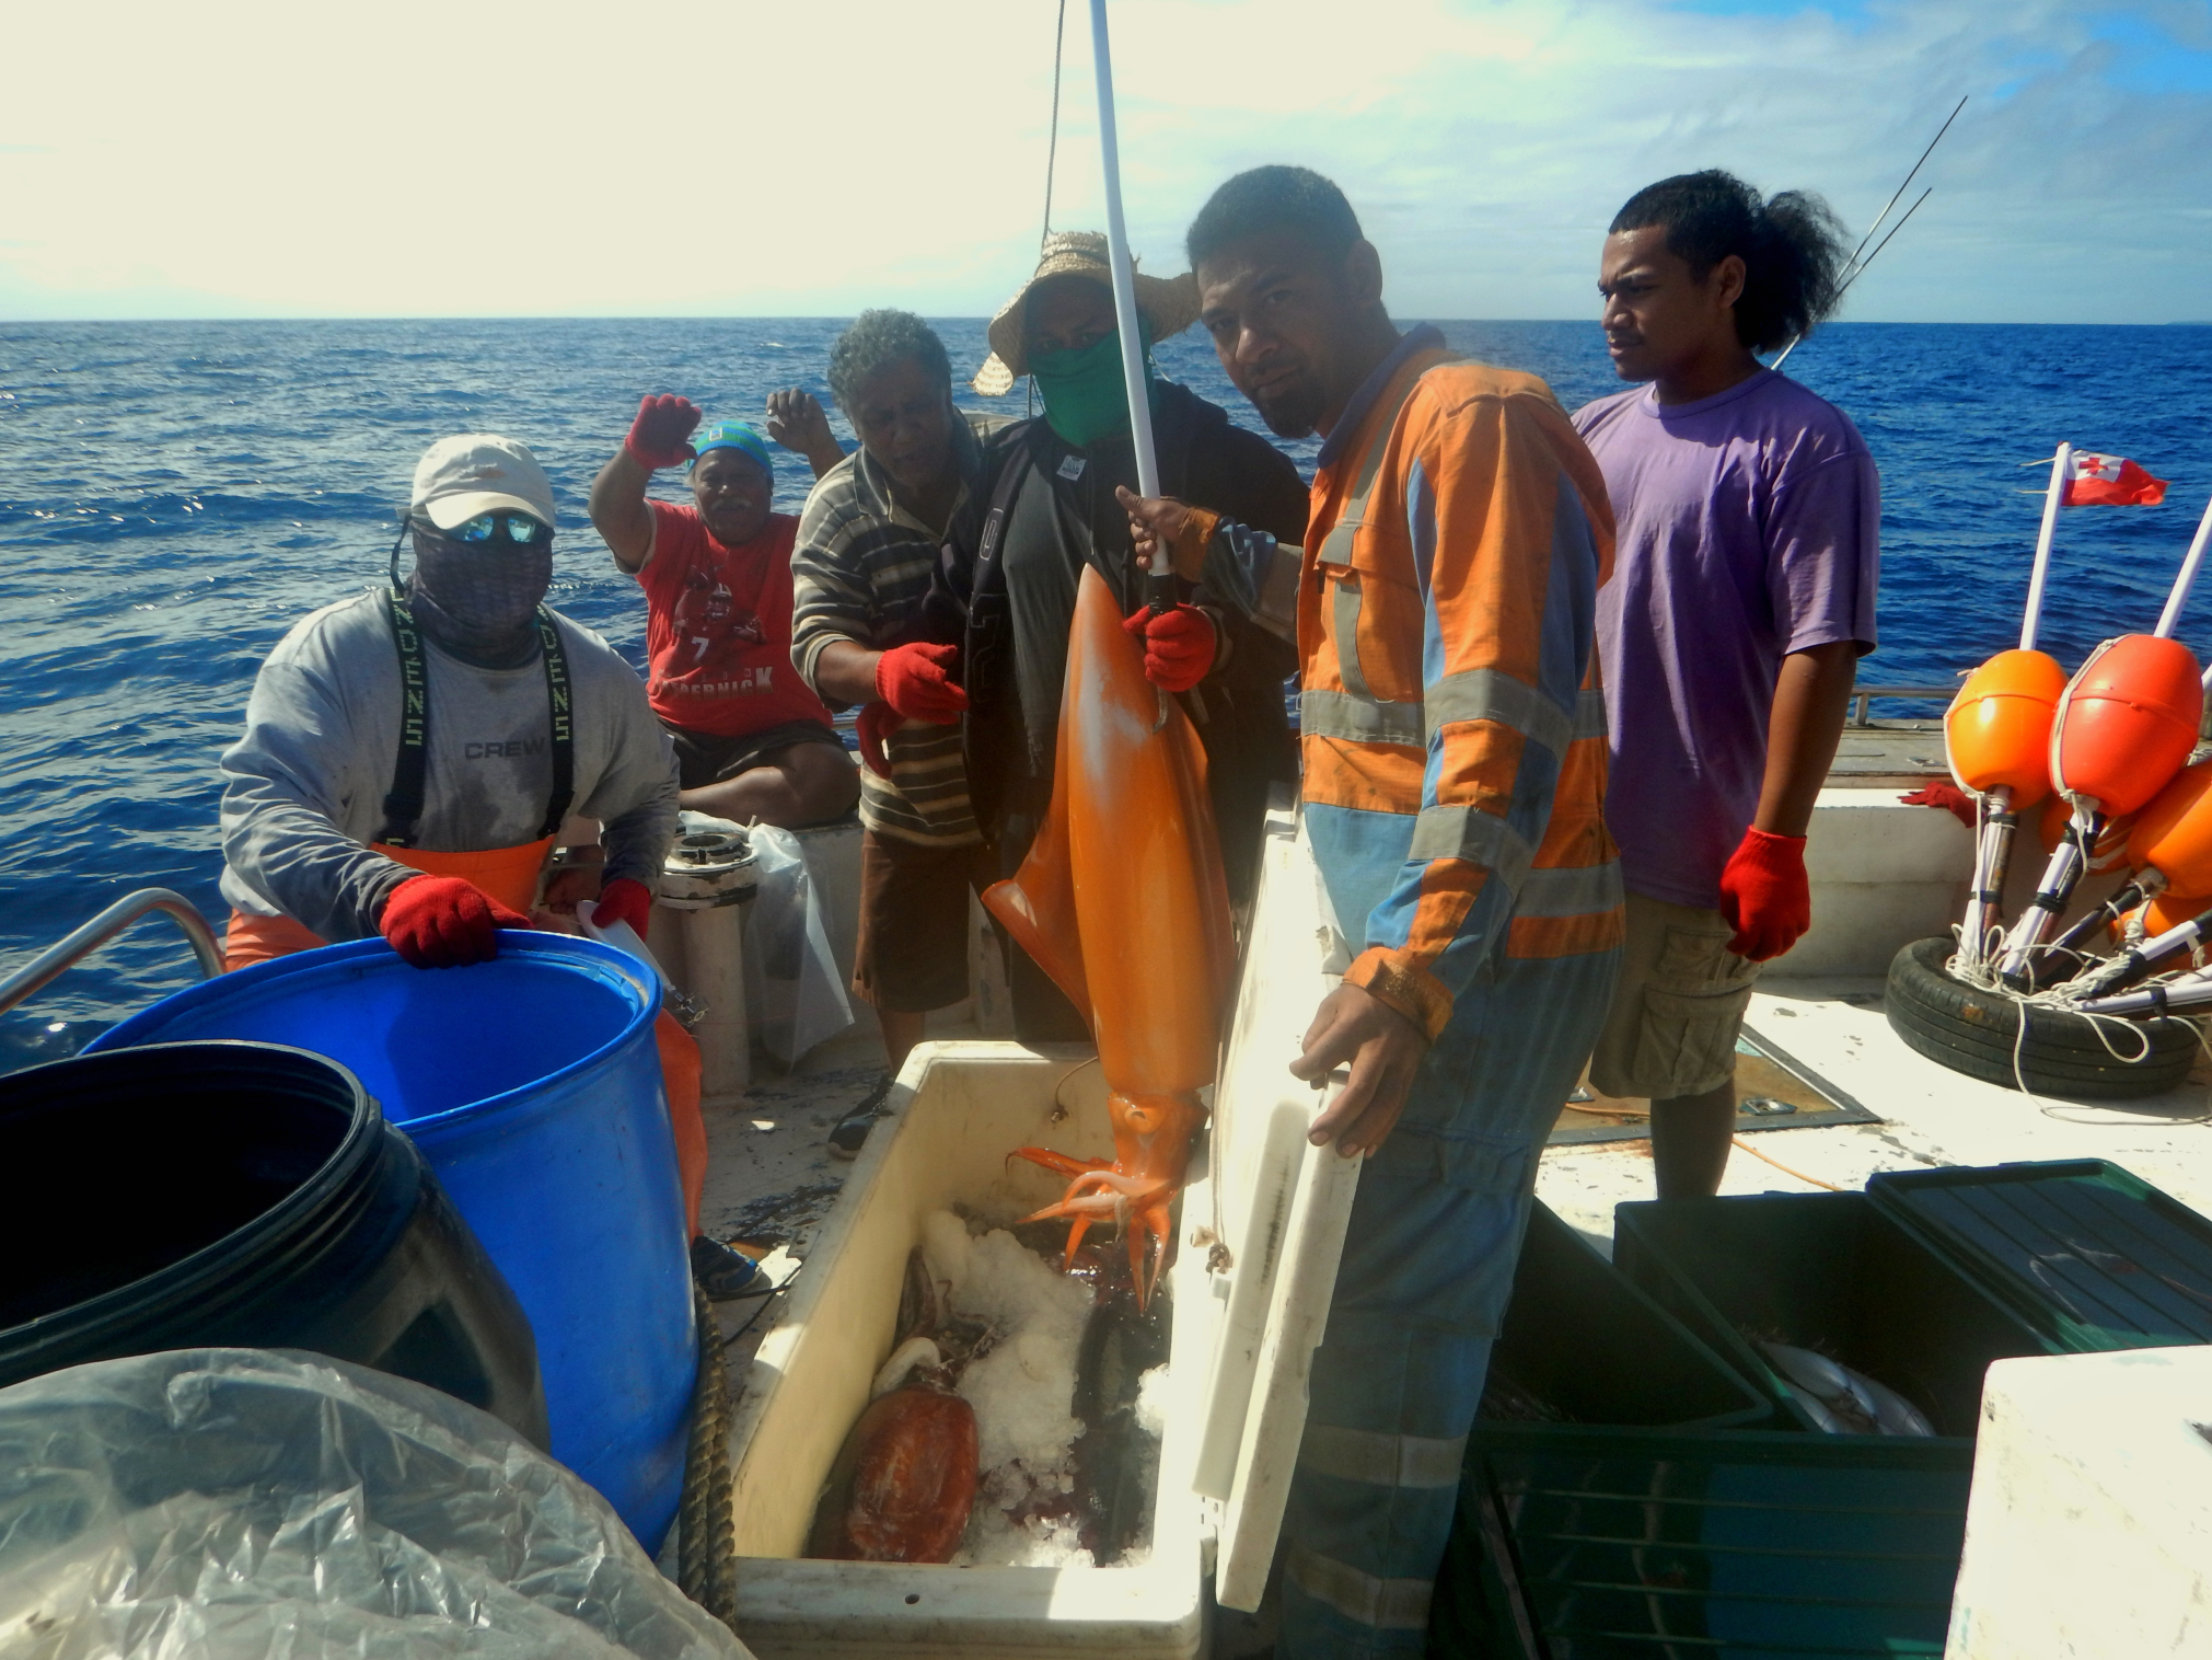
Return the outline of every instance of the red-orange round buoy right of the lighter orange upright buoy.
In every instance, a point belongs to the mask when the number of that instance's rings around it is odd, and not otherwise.
[[[2106,815],[2135,812],[2197,748],[2205,693],[2179,640],[2130,633],[2081,664],[2051,726],[2051,784]]]

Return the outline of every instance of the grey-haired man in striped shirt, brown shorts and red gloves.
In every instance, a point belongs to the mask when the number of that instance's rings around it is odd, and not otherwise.
[[[792,551],[792,662],[830,704],[860,704],[860,945],[854,992],[896,1076],[929,1009],[967,996],[969,890],[989,883],[960,759],[958,646],[931,644],[929,575],[973,511],[982,452],[951,363],[911,312],[863,312],[830,347],[830,392],[860,449],[807,498]],[[995,423],[993,423],[995,425]],[[953,635],[958,637],[958,635]],[[865,1122],[838,1127],[852,1151]]]

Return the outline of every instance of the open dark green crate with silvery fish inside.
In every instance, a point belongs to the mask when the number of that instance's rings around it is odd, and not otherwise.
[[[1814,1421],[1754,1341],[1843,1361],[1907,1397],[1938,1434],[1964,1439],[1991,1361],[2059,1352],[1867,1193],[1624,1204],[1613,1257],[1807,1430]]]

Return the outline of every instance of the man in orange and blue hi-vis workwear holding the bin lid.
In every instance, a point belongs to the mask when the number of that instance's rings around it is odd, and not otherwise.
[[[1221,365],[1323,436],[1305,547],[1124,496],[1298,644],[1305,826],[1354,956],[1301,1078],[1314,1142],[1367,1153],[1285,1521],[1279,1653],[1420,1653],[1537,1153],[1613,994],[1597,587],[1606,483],[1528,374],[1400,334],[1352,206],[1303,168],[1190,226]]]

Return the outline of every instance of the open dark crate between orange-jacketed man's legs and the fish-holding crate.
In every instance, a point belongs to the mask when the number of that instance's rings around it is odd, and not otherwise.
[[[1717,1430],[1774,1417],[1763,1390],[1542,1200],[1528,1215],[1491,1381],[1540,1397],[1573,1423]]]

